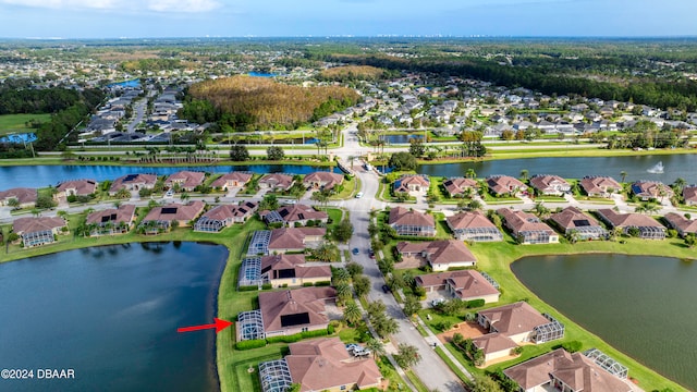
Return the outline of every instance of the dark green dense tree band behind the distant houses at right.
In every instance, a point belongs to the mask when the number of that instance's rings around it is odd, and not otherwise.
[[[697,82],[641,79],[621,84],[582,77],[550,74],[547,68],[525,68],[499,64],[484,59],[419,59],[403,60],[386,56],[344,57],[333,61],[350,61],[391,70],[409,70],[488,81],[501,86],[526,87],[542,94],[582,95],[588,98],[633,101],[657,108],[697,110]]]

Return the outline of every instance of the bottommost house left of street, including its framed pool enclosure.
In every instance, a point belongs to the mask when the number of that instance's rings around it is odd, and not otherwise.
[[[299,384],[301,392],[380,389],[382,375],[375,359],[354,357],[339,338],[311,339],[288,347],[285,358],[259,364],[264,392],[286,391],[292,383]]]

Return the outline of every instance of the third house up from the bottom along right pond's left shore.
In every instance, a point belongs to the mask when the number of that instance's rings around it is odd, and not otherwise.
[[[462,301],[484,299],[486,304],[499,301],[501,293],[477,270],[460,270],[418,275],[416,285],[427,293],[448,291]]]

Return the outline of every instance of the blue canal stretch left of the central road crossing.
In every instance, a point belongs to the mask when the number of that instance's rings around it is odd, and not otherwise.
[[[293,164],[248,164],[248,166],[217,166],[217,167],[191,167],[191,168],[145,168],[126,166],[17,166],[0,167],[0,191],[26,186],[44,187],[57,185],[66,180],[94,179],[97,181],[114,180],[132,173],[157,173],[158,175],[172,174],[180,170],[207,171],[210,173],[228,173],[231,171],[250,171],[255,173],[293,173],[307,174],[314,171],[333,170],[334,167],[311,167]]]

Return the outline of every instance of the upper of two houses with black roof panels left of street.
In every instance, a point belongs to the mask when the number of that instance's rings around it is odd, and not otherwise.
[[[269,255],[261,257],[261,278],[273,287],[330,282],[331,267],[307,264],[305,255]]]

